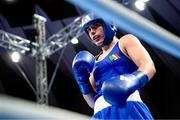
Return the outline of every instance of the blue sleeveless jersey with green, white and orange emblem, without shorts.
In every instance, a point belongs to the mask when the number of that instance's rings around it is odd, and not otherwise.
[[[93,70],[94,79],[98,94],[95,100],[101,95],[102,83],[111,77],[125,73],[132,73],[137,70],[137,66],[130,60],[115,44],[111,52],[101,61],[96,61]]]

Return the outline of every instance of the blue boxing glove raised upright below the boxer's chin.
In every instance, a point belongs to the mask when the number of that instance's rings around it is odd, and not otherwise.
[[[80,51],[73,60],[72,69],[74,77],[83,94],[92,92],[92,87],[89,83],[89,76],[94,67],[94,63],[95,58],[88,51]]]

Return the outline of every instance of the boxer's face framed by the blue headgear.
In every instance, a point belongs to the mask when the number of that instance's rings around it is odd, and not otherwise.
[[[87,28],[89,37],[97,46],[101,46],[104,42],[104,29],[101,23],[95,22]]]

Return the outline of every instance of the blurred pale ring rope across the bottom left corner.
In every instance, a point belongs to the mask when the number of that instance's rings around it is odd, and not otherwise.
[[[7,120],[89,120],[90,117],[60,108],[42,106],[0,95],[0,119]]]

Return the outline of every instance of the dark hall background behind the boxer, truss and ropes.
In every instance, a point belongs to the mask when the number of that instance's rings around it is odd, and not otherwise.
[[[118,2],[177,36],[180,35],[179,0],[150,0],[147,8],[141,12],[134,8],[133,0],[118,0]],[[30,30],[34,13],[39,13],[47,18],[46,37],[48,38],[82,15],[84,11],[62,0],[16,0],[9,3],[1,0],[0,29],[34,41],[33,32]],[[120,36],[125,33],[128,32],[119,28]],[[83,100],[78,85],[72,77],[71,64],[78,51],[89,50],[96,55],[100,49],[85,40],[88,39],[86,35],[82,35],[78,39],[80,40],[79,44],[68,44],[63,50],[47,58],[48,82],[50,83],[58,59],[62,54],[60,66],[49,93],[49,105],[92,115],[93,111]],[[156,119],[180,118],[180,60],[143,42],[143,40],[142,44],[150,53],[157,70],[153,79],[141,91],[144,102]],[[17,65],[11,62],[8,54],[9,51],[0,48],[0,93],[35,102],[36,96],[33,90],[17,69]],[[18,65],[35,87],[34,58],[23,56]]]

